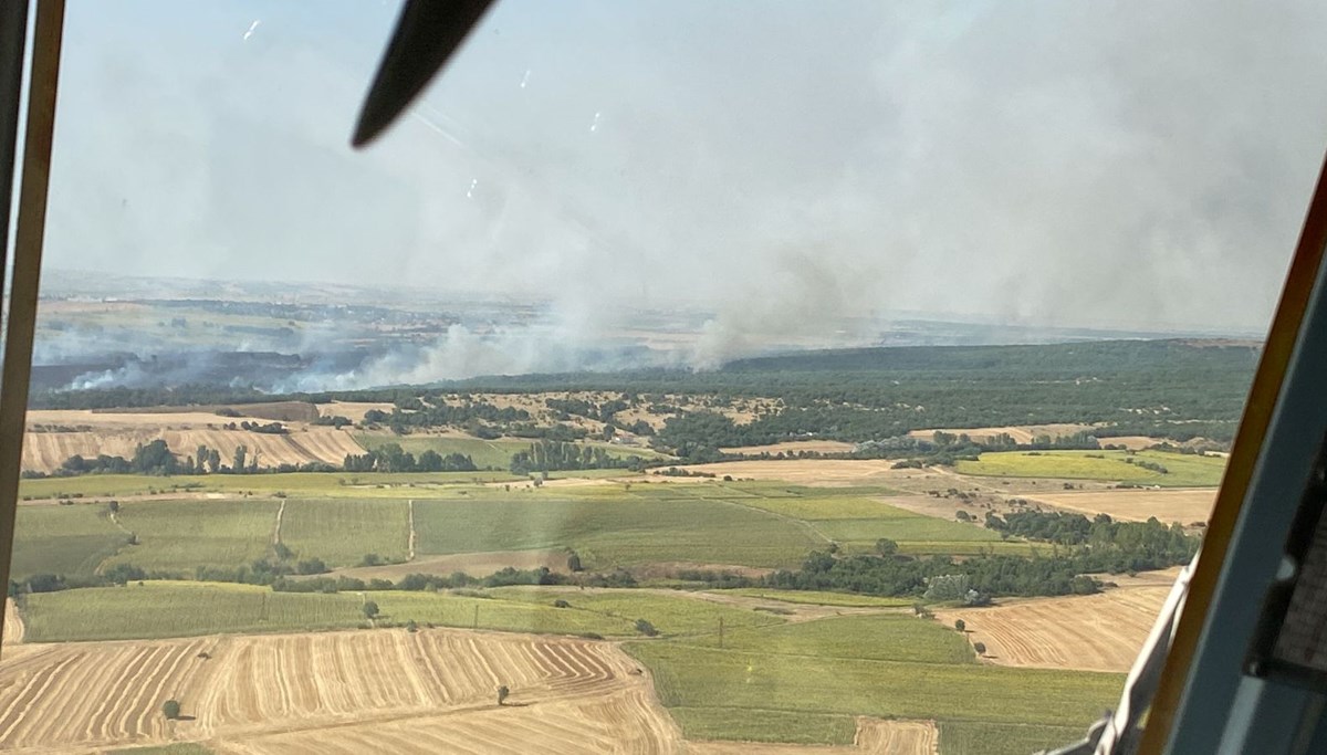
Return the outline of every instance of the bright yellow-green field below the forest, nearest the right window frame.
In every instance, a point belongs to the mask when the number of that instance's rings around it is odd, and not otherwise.
[[[1133,459],[1135,463],[1128,463]],[[1147,470],[1137,462],[1161,464],[1168,474]],[[1212,487],[1221,483],[1226,460],[1218,456],[1169,454],[1165,451],[999,451],[982,454],[975,462],[958,462],[965,475],[1002,478],[1051,478],[1103,480],[1161,487]]]

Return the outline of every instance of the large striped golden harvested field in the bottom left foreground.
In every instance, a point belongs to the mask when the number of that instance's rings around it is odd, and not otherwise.
[[[499,685],[512,690],[503,709]],[[169,698],[190,718],[169,724],[161,715]],[[386,750],[394,752],[459,752],[451,742],[464,740],[484,742],[484,751],[666,752],[679,742],[632,659],[571,638],[227,636],[56,645],[0,663],[0,742],[19,752],[166,740],[337,752],[357,728],[378,742],[399,730],[399,747]]]

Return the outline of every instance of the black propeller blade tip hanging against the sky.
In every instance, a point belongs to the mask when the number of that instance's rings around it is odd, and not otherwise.
[[[492,0],[406,0],[350,143],[373,141],[442,70]]]

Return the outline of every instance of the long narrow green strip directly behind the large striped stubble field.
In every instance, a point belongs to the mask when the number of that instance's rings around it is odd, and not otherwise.
[[[555,600],[569,608],[555,608]],[[214,633],[352,629],[365,624],[365,600],[378,604],[380,621],[535,632],[638,637],[636,620],[664,636],[697,636],[725,626],[782,624],[770,613],[685,596],[637,590],[507,589],[458,593],[365,592],[281,593],[222,583],[130,583],[24,598],[29,642],[192,637]]]

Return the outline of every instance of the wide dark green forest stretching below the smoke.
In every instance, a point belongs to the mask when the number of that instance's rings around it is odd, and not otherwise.
[[[559,415],[613,417],[618,403],[669,418],[657,445],[683,458],[726,446],[799,438],[847,442],[897,438],[910,430],[1056,422],[1099,425],[1097,438],[1153,435],[1230,441],[1259,349],[1222,341],[1093,341],[1032,346],[913,346],[800,352],[740,360],[715,370],[649,369],[531,374],[390,389],[261,394],[251,389],[97,389],[41,391],[35,409],[215,405],[259,401],[393,402],[370,421],[405,434],[466,426],[479,437],[510,434],[575,441],[584,430],[533,423],[524,410],[483,402],[447,406],[445,394],[620,391],[621,402],[549,405]],[[739,398],[780,406],[735,425],[670,406],[665,397],[709,397],[715,407]]]

